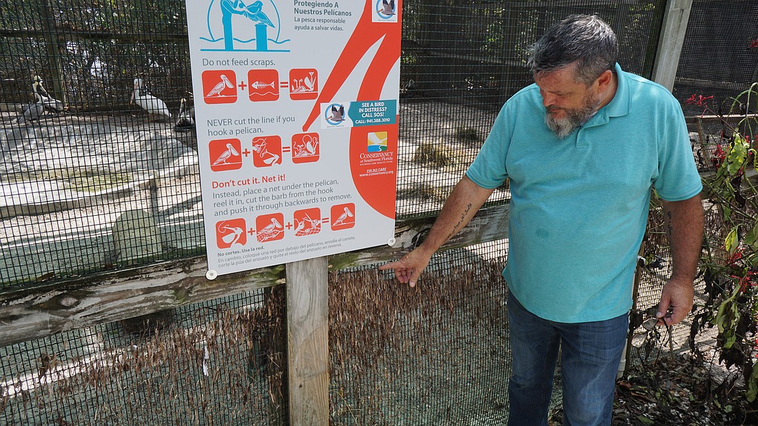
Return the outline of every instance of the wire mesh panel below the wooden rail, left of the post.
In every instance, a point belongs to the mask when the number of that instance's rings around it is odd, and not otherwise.
[[[2,348],[2,424],[287,424],[280,290]]]

